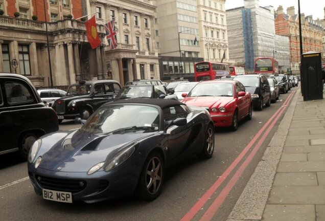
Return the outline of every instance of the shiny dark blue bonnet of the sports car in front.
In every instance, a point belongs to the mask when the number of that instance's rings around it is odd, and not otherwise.
[[[114,135],[94,135],[80,130],[60,133],[61,138],[52,147],[53,137],[42,139],[38,155],[42,156],[39,168],[61,172],[87,172],[92,166],[111,159],[122,148],[150,137],[156,132],[128,132]],[[41,152],[42,149],[47,151]]]

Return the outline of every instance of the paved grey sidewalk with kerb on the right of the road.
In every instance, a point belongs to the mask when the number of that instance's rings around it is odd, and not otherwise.
[[[325,94],[297,90],[227,221],[325,220]]]

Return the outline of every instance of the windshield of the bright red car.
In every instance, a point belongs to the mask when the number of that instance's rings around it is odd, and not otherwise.
[[[234,96],[233,84],[221,82],[201,83],[197,84],[188,95],[188,97],[205,96],[232,97]]]

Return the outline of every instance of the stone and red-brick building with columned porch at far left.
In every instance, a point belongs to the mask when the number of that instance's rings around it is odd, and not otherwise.
[[[0,72],[25,75],[37,87],[105,78],[105,45],[90,49],[84,22],[69,18],[82,16],[80,0],[0,0],[0,6]],[[98,32],[104,41],[104,27]]]

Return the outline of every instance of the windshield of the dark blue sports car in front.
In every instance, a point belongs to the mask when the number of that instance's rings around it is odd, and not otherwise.
[[[100,107],[81,131],[91,134],[154,132],[159,129],[159,111],[146,105],[120,104]]]

